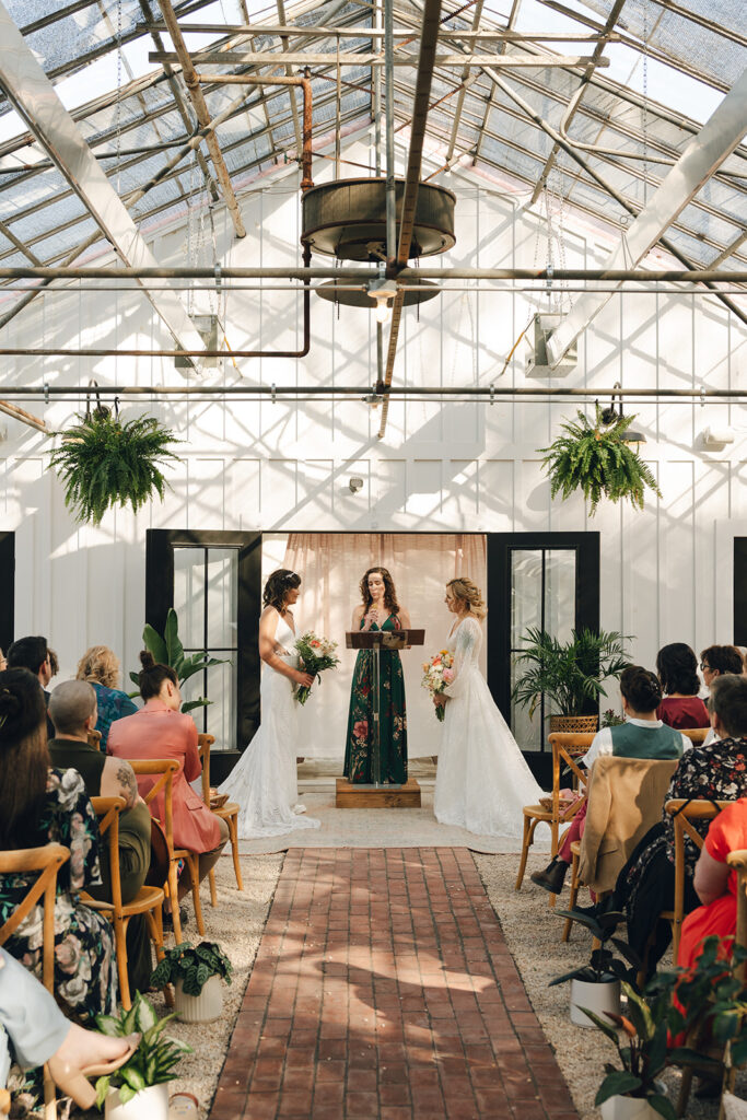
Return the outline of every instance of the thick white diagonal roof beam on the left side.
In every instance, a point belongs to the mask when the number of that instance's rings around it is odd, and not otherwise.
[[[1,0],[0,85],[124,263],[133,268],[157,267],[153,254]],[[180,347],[204,349],[203,339],[176,293],[160,292],[152,305]]]

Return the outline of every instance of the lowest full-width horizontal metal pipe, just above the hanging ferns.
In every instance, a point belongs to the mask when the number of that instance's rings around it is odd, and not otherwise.
[[[230,355],[223,354],[222,357]],[[4,396],[80,396],[85,392],[84,385],[15,385],[3,386]],[[334,396],[361,396],[371,392],[371,385],[99,385],[102,396],[237,396],[254,393],[258,396],[323,396],[325,393]],[[511,385],[387,385],[382,391],[384,396],[454,396],[482,398],[488,401],[493,398],[585,398],[596,400],[598,396],[627,396],[631,399],[681,399],[689,401],[738,401],[747,399],[747,389],[561,389],[540,388],[534,385],[512,388]]]

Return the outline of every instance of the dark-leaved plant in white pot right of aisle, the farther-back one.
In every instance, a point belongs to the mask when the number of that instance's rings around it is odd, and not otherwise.
[[[591,1008],[596,1015],[619,1015],[622,981],[631,974],[631,969],[641,967],[637,953],[619,937],[613,936],[619,923],[625,921],[625,915],[609,912],[594,917],[577,909],[555,913],[558,917],[570,917],[587,926],[592,936],[600,942],[599,949],[591,950],[587,964],[563,972],[561,977],[550,981],[550,987],[554,988],[555,984],[570,980],[571,1023],[578,1027],[592,1026],[586,1015],[586,1008]],[[616,956],[608,945],[614,945],[624,960]]]

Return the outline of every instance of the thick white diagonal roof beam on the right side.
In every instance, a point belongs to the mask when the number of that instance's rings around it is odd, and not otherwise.
[[[619,268],[623,261],[627,267],[631,262],[635,265],[642,261],[746,132],[747,69],[664,177],[648,205],[641,211],[613,252],[607,268]],[[588,292],[576,301],[548,340],[548,354],[553,366],[610,298],[607,292]]]

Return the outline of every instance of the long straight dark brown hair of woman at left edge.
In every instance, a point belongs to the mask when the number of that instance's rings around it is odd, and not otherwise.
[[[44,842],[39,816],[49,772],[47,710],[29,669],[0,673],[0,848]]]

